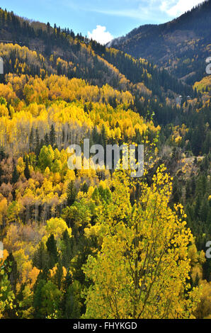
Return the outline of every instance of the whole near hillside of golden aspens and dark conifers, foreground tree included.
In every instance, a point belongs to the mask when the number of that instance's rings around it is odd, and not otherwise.
[[[209,318],[209,77],[3,10],[0,35],[0,318]],[[144,144],[144,176],[69,169],[84,138]]]

